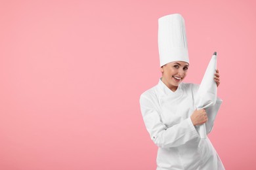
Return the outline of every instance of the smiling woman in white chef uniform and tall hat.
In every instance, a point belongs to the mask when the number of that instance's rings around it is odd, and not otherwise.
[[[197,84],[184,83],[189,60],[184,20],[180,14],[161,17],[158,29],[160,70],[156,86],[142,93],[140,108],[152,141],[159,147],[157,169],[224,169],[209,139],[198,135],[197,126],[209,133],[221,105],[196,110]],[[219,71],[215,82],[220,84]]]

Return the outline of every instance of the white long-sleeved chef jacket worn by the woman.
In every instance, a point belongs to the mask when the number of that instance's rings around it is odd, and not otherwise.
[[[222,170],[223,163],[208,138],[201,139],[197,127],[192,124],[191,114],[198,84],[179,84],[175,92],[160,81],[140,95],[140,109],[152,141],[158,146],[157,170],[205,169]],[[208,116],[207,134],[222,100],[205,109]]]

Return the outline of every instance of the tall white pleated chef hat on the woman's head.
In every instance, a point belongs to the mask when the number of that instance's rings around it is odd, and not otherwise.
[[[189,63],[184,19],[170,14],[158,19],[158,49],[160,67],[172,61]]]

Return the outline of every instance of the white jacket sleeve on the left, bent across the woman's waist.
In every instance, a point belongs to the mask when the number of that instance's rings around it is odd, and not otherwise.
[[[140,96],[140,110],[152,141],[161,148],[180,146],[199,137],[190,118],[171,127],[165,126],[161,121],[156,101],[153,101],[152,97],[143,94]]]

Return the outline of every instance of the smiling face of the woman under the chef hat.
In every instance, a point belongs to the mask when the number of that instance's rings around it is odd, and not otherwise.
[[[175,92],[181,83],[181,81],[186,77],[188,71],[188,63],[184,61],[173,61],[167,63],[161,67],[163,83],[173,92]]]

